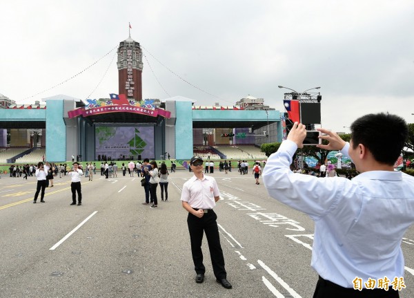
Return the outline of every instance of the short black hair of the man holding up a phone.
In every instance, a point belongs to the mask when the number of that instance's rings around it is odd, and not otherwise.
[[[351,124],[353,149],[364,145],[377,162],[394,165],[408,138],[403,118],[388,113],[364,115]]]

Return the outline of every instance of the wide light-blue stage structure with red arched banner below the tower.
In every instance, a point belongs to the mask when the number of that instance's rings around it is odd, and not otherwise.
[[[166,158],[166,152],[171,158],[188,160],[203,128],[233,129],[236,135],[237,131],[249,130],[253,136],[258,129],[266,131],[275,125],[272,138],[282,142],[282,122],[275,110],[195,109],[195,100],[180,96],[147,108],[142,102],[140,106],[133,102],[113,104],[117,102],[114,98],[112,103],[99,106],[95,102],[89,107],[67,95],[43,100],[46,106],[41,109],[0,109],[0,130],[42,129],[50,162],[71,160],[72,155],[97,160],[102,152],[110,152],[112,160],[121,156],[159,160]],[[0,147],[6,147],[1,139]]]

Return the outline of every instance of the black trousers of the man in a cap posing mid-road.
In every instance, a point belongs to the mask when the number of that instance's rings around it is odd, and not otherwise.
[[[219,227],[217,226],[217,215],[213,210],[208,210],[203,217],[188,213],[187,224],[190,232],[191,254],[193,254],[194,269],[197,274],[204,274],[206,268],[203,264],[203,252],[201,243],[204,232],[206,232],[208,250],[210,250],[213,272],[217,279],[226,279],[227,272],[224,268],[223,250],[221,250]]]

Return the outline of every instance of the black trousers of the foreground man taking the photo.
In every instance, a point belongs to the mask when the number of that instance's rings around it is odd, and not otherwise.
[[[354,290],[353,288],[344,288],[342,286],[338,286],[336,283],[332,281],[328,281],[319,277],[319,280],[316,284],[315,293],[313,294],[313,298],[398,298],[400,294],[398,291],[393,290],[392,286],[388,288],[388,291],[375,288],[371,289],[362,289]]]

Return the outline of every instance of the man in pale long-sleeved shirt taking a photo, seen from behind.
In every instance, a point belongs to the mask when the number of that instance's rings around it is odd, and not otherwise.
[[[293,174],[293,155],[306,137],[304,124],[297,122],[263,171],[271,197],[315,221],[311,266],[319,281],[313,297],[399,297],[402,288],[394,288],[393,281],[404,283],[401,243],[414,223],[414,177],[393,166],[408,126],[397,115],[364,115],[351,125],[350,143],[337,133],[318,130],[326,134],[319,138],[328,145],[317,147],[350,157],[358,176],[348,180]],[[378,287],[385,277],[389,290]]]

